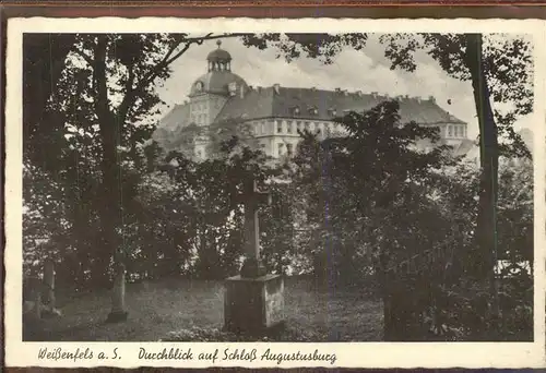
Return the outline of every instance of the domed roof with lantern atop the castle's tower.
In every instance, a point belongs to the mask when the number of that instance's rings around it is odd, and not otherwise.
[[[221,40],[216,41],[216,45],[217,49],[206,57],[209,72],[193,82],[190,97],[206,93],[229,95],[234,91],[246,92],[248,89],[245,80],[232,72],[232,55],[221,48]]]

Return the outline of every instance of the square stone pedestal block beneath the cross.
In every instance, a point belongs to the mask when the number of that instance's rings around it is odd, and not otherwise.
[[[284,322],[284,280],[280,275],[229,277],[225,281],[227,332],[260,334]]]

